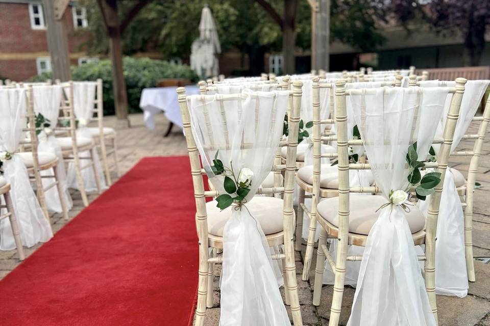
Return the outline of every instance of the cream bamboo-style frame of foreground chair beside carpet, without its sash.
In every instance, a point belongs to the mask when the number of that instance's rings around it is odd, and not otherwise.
[[[293,84],[293,91],[290,97],[292,98],[292,108],[289,113],[289,130],[291,135],[298,133],[299,126],[299,112],[301,105],[302,83],[296,82]],[[209,203],[206,205],[205,197],[217,197],[216,191],[204,191],[204,182],[202,175],[205,174],[204,169],[201,168],[200,156],[195,143],[191,124],[190,113],[186,102],[185,88],[177,89],[179,104],[181,108],[182,121],[184,131],[186,135],[187,149],[189,151],[190,165],[192,170],[192,180],[194,185],[194,197],[197,206],[197,213],[195,215],[198,238],[199,238],[199,287],[198,287],[198,303],[195,312],[195,325],[202,326],[204,324],[204,317],[206,313],[206,307],[212,307],[212,270],[214,263],[222,263],[222,257],[209,257],[209,249],[223,249],[223,237],[222,234],[211,234],[209,232],[212,229],[212,221],[216,220],[219,209],[216,209],[215,203]],[[207,95],[202,95],[204,102]],[[213,99],[214,96],[209,96]],[[221,95],[216,100],[236,100],[236,94]],[[237,107],[239,110],[239,105]],[[206,116],[206,114],[205,114]],[[283,273],[285,284],[285,297],[286,304],[290,305],[293,322],[295,325],[302,325],[302,317],[298,298],[298,286],[296,281],[296,267],[294,257],[294,244],[293,244],[293,232],[294,232],[294,210],[293,210],[293,196],[294,196],[294,175],[296,170],[296,147],[297,138],[290,137],[287,141],[281,141],[280,147],[287,146],[288,153],[286,163],[277,165],[277,156],[273,171],[284,171],[285,182],[284,187],[273,188],[259,188],[257,194],[283,194],[284,200],[282,204],[282,223],[279,231],[268,233],[264,230],[267,242],[269,246],[278,246],[284,244],[284,252],[278,255],[273,255],[273,259],[283,260]],[[257,199],[255,199],[257,200]],[[251,202],[253,203],[253,201]],[[208,211],[210,210],[210,211]],[[260,219],[259,219],[260,223]],[[219,232],[215,232],[219,233]]]

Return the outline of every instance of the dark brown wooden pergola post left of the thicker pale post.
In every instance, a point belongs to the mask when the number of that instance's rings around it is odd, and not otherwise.
[[[295,23],[297,0],[284,0],[284,19],[282,25],[282,55],[284,74],[296,73],[295,67]]]

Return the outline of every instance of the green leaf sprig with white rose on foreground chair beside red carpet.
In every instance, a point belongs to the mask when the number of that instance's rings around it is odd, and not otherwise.
[[[245,197],[247,197],[250,192],[254,174],[249,168],[242,168],[237,177],[233,170],[232,161],[230,161],[230,168],[225,167],[222,160],[218,159],[218,152],[219,151],[216,151],[216,154],[214,155],[211,171],[214,175],[225,176],[223,187],[228,194],[216,197],[215,200],[218,202],[216,207],[223,210],[233,204],[233,202],[237,203],[238,207],[241,207],[241,205],[246,203]]]

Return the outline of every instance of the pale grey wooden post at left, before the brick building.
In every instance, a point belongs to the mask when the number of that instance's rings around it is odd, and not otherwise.
[[[53,78],[60,79],[62,82],[71,80],[68,41],[65,26],[61,20],[67,5],[66,0],[43,0]]]

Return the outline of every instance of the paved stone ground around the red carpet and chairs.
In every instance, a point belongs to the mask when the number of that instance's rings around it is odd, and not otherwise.
[[[168,121],[163,115],[156,117],[157,127],[150,131],[143,125],[141,114],[131,115],[130,128],[117,128],[118,156],[121,174],[131,169],[142,157],[145,156],[167,156],[186,155],[185,139],[182,132],[174,127],[174,131],[167,138],[163,138]],[[115,126],[113,117],[105,118],[107,126]],[[476,133],[473,130],[471,133]],[[459,150],[472,150],[471,141],[462,141]],[[490,134],[487,134],[483,146],[480,169],[477,181],[482,187],[475,194],[475,214],[473,216],[473,250],[475,257],[482,261],[475,262],[476,282],[470,284],[469,295],[464,298],[437,296],[439,310],[439,325],[441,326],[490,326],[490,265],[487,257],[490,257]],[[469,159],[465,157],[453,157],[451,166],[459,169],[465,176],[468,171]],[[113,175],[113,179],[117,179]],[[74,208],[70,211],[70,220],[83,209],[82,200],[78,192],[72,192]],[[97,197],[91,194],[89,200]],[[189,216],[189,218],[193,218]],[[69,221],[64,221],[60,214],[55,214],[51,219],[53,231],[57,232]],[[40,245],[25,249],[27,255],[32,254]],[[304,249],[305,247],[303,247]],[[303,251],[304,252],[304,251]],[[322,292],[322,303],[320,307],[311,305],[312,283],[301,280],[303,270],[302,254],[297,253],[297,274],[300,304],[302,307],[303,322],[309,326],[321,326],[328,324],[332,287],[324,286]],[[315,258],[313,258],[315,259]],[[315,261],[315,260],[313,260]],[[0,279],[5,277],[19,264],[15,251],[0,252]],[[214,308],[208,309],[206,313],[206,325],[218,325],[219,321],[219,290],[218,276],[219,265],[215,268],[215,291]],[[313,271],[310,280],[314,279]],[[197,277],[197,270],[196,270]],[[353,300],[354,289],[347,287],[344,295],[344,306],[342,307],[341,324],[347,322],[350,306]],[[381,325],[380,325],[381,326]],[[385,325],[382,325],[385,326]],[[390,325],[386,325],[390,326]]]

